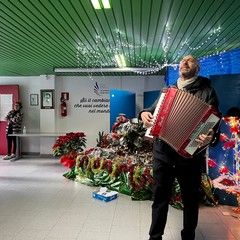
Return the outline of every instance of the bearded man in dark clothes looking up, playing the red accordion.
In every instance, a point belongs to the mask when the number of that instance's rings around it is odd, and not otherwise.
[[[201,98],[206,103],[218,107],[219,101],[215,90],[208,78],[198,76],[200,64],[189,55],[180,62],[179,78],[175,87],[188,91]],[[146,127],[153,124],[153,113],[157,101],[148,109],[140,112],[139,118]],[[186,106],[187,107],[187,106]],[[219,124],[218,124],[219,125]],[[206,161],[206,147],[215,146],[219,141],[219,126],[201,134],[195,140],[199,143],[199,150],[191,159],[179,155],[167,143],[156,138],[153,142],[153,204],[152,222],[149,230],[149,240],[162,240],[167,221],[168,206],[171,198],[172,185],[177,178],[181,188],[184,205],[182,240],[194,240],[195,229],[198,224],[198,210],[200,200],[201,175]]]

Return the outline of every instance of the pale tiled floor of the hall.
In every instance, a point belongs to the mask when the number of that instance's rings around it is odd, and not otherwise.
[[[147,240],[151,201],[119,194],[92,198],[96,188],[65,179],[57,159],[0,157],[0,240]],[[201,207],[197,240],[240,240],[231,207]],[[164,240],[180,240],[182,211],[170,207]]]

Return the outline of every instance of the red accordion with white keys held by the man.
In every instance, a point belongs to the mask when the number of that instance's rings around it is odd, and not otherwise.
[[[177,88],[162,91],[153,116],[153,126],[145,136],[163,140],[185,158],[191,158],[198,149],[195,139],[221,119],[214,106]]]

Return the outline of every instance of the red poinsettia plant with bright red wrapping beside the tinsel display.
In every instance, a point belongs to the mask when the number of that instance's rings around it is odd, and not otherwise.
[[[69,132],[59,136],[53,145],[53,155],[61,156],[60,163],[72,168],[77,155],[86,147],[86,136],[83,132]]]

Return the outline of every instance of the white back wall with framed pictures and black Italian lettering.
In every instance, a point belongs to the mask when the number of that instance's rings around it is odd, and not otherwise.
[[[96,82],[101,96],[94,92]],[[80,77],[80,76],[38,76],[38,77],[0,77],[1,85],[18,84],[23,103],[24,125],[27,132],[75,132],[87,135],[87,148],[96,145],[98,132],[109,132],[109,113],[89,113],[92,107],[75,107],[81,99],[96,101],[109,99],[110,89],[128,90],[136,93],[136,116],[143,108],[143,92],[159,90],[164,86],[164,76],[123,76],[123,77]],[[40,89],[55,89],[55,109],[40,108]],[[67,101],[68,116],[60,116],[61,92],[69,92]],[[39,94],[39,105],[30,106],[30,94]],[[89,104],[91,104],[90,102]],[[105,107],[98,108],[107,110]],[[97,109],[97,110],[98,110]],[[26,138],[22,141],[22,151],[51,154],[55,139]]]

